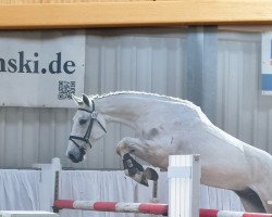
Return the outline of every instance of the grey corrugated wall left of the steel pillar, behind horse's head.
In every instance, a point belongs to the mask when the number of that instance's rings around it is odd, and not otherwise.
[[[186,85],[184,29],[88,30],[87,94],[114,90],[152,91],[182,97]],[[8,92],[7,92],[8,94]],[[110,125],[87,161],[65,157],[74,110],[0,107],[0,167],[28,167],[57,156],[65,167],[121,168],[118,141],[133,131]]]

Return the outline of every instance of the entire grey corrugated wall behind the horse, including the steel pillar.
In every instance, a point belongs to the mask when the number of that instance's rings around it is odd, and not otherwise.
[[[129,89],[189,99],[222,129],[272,152],[272,101],[261,95],[259,84],[260,42],[258,33],[215,27],[87,30],[85,92]],[[121,168],[115,144],[134,132],[120,125],[108,127],[84,163],[66,159],[74,113],[0,107],[0,167],[57,156],[65,167]]]

